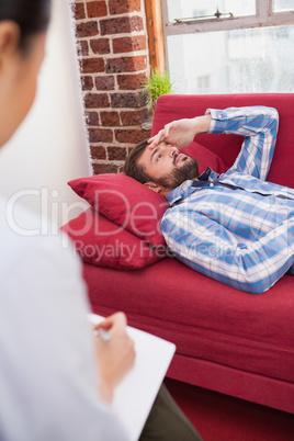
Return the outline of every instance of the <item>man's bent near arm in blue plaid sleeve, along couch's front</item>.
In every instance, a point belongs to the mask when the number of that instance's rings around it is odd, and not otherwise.
[[[269,290],[294,262],[293,219],[249,242],[206,215],[191,218],[185,208],[169,208],[161,230],[169,249],[188,267],[252,294]]]

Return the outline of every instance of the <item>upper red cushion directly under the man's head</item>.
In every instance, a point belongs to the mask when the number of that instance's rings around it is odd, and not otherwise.
[[[98,174],[68,184],[103,216],[146,240],[152,247],[166,245],[160,220],[169,207],[166,197],[125,174]]]

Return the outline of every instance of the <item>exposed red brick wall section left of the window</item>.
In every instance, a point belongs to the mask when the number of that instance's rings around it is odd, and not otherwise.
[[[76,0],[75,14],[93,171],[120,172],[150,135],[140,127],[148,118],[144,0]]]

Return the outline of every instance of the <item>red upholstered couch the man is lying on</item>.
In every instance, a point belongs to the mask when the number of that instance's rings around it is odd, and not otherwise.
[[[274,106],[280,129],[269,181],[294,188],[294,94],[162,95],[152,133],[207,108]],[[196,139],[228,168],[241,138]],[[252,295],[176,259],[122,271],[84,263],[93,312],[124,310],[132,326],[177,344],[168,376],[294,414],[294,276]]]

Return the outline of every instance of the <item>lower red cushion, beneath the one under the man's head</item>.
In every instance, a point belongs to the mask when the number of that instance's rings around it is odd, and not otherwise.
[[[91,207],[64,225],[84,262],[117,270],[136,270],[166,257],[165,248],[151,249]]]

